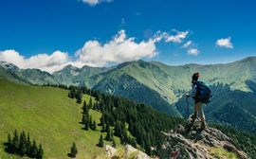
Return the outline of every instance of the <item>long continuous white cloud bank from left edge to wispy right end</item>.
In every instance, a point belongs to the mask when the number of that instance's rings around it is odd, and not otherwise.
[[[38,68],[49,73],[61,70],[67,64],[77,67],[110,66],[120,62],[131,62],[140,59],[150,59],[158,52],[156,43],[181,43],[189,31],[175,31],[174,35],[158,31],[155,36],[140,42],[135,37],[127,37],[125,30],[120,30],[110,41],[101,44],[98,40],[84,43],[72,58],[66,52],[55,51],[52,54],[37,54],[25,57],[15,50],[0,51],[0,61],[10,62],[20,68]],[[191,50],[190,54],[198,54],[198,50]]]

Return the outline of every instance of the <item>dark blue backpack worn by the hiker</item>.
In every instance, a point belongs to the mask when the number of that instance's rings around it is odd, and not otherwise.
[[[196,83],[196,96],[202,103],[210,102],[210,87],[203,81]]]

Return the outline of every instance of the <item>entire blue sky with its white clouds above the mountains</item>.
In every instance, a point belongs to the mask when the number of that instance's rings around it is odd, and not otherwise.
[[[253,0],[1,0],[0,61],[43,70],[137,59],[232,62],[256,55],[255,7]],[[33,65],[40,57],[46,63]]]

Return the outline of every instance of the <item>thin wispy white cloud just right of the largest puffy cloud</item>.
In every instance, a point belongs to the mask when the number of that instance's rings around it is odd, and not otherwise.
[[[188,36],[190,31],[177,31],[173,29],[175,35],[170,35],[168,32],[157,31],[155,33],[155,42],[164,40],[166,43],[181,43]]]

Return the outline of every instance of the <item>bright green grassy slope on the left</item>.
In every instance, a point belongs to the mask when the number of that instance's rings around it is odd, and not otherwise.
[[[103,153],[96,147],[101,132],[85,132],[79,122],[82,105],[68,98],[67,91],[52,87],[19,85],[0,79],[0,156],[9,158],[3,143],[9,132],[17,129],[30,132],[31,138],[42,143],[46,158],[67,158],[72,142],[76,142],[79,158],[92,158]],[[84,99],[89,100],[88,96]],[[100,122],[101,113],[92,111]],[[101,130],[98,127],[98,130]],[[119,146],[119,139],[116,138]],[[104,144],[107,143],[106,141]],[[108,144],[110,144],[108,142]],[[14,158],[16,158],[14,156]]]

